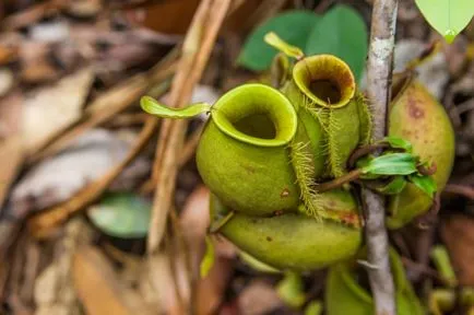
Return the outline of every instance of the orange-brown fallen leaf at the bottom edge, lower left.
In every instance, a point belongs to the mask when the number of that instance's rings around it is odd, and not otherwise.
[[[140,294],[120,282],[107,258],[92,246],[75,253],[72,277],[88,315],[153,314]]]

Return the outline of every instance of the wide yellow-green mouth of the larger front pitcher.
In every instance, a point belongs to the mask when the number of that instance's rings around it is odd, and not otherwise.
[[[259,147],[288,144],[298,124],[288,98],[263,84],[227,92],[212,107],[212,119],[227,136]]]

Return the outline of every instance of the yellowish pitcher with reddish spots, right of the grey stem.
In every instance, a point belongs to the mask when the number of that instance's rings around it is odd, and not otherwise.
[[[389,135],[410,141],[413,153],[430,163],[436,170],[432,178],[437,190],[442,191],[451,174],[455,152],[454,130],[445,107],[413,73],[407,72],[393,77],[389,110]],[[434,200],[414,183],[407,183],[388,202],[387,225],[399,229],[429,210]]]

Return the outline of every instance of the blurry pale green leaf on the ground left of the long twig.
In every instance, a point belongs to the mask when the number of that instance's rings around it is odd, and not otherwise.
[[[107,235],[137,238],[149,232],[151,209],[150,201],[134,194],[109,194],[88,208],[87,217]]]

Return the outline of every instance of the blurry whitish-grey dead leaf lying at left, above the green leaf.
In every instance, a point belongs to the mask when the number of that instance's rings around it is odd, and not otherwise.
[[[88,183],[119,163],[129,143],[105,129],[93,129],[76,139],[69,150],[34,166],[13,188],[15,213],[29,213],[68,200]]]

